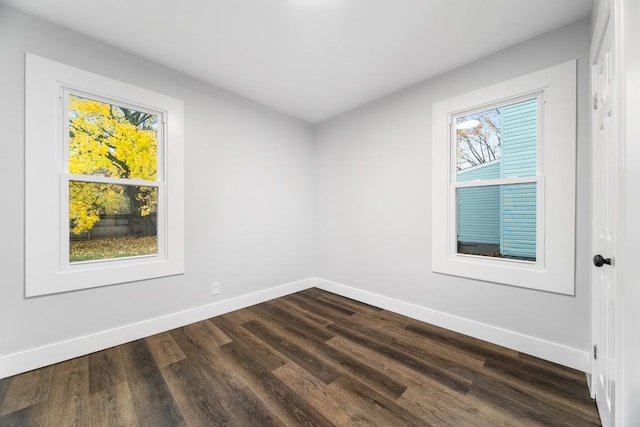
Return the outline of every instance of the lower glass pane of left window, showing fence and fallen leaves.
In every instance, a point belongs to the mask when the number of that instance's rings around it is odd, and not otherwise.
[[[69,262],[158,253],[158,189],[69,182]]]

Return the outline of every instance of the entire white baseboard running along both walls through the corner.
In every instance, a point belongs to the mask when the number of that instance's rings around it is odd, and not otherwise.
[[[308,278],[126,326],[0,356],[0,379],[199,322],[313,286],[560,365],[589,372],[590,358],[585,351],[432,310],[341,283],[320,278]]]

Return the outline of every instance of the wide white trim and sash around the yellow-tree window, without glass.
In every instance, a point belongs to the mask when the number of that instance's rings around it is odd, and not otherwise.
[[[184,273],[183,102],[137,86],[26,54],[25,294],[27,297]],[[66,90],[157,111],[164,121],[164,186],[158,200],[158,254],[68,262],[68,181],[64,123]],[[81,180],[92,181],[89,176]],[[148,185],[126,180],[126,185]],[[160,196],[163,194],[164,196]],[[160,210],[163,210],[161,213]],[[160,219],[161,217],[161,219]],[[160,238],[162,235],[162,238]],[[161,245],[162,242],[162,245]],[[64,252],[64,251],[67,252]]]

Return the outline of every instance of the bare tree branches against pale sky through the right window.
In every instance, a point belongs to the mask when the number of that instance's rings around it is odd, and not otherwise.
[[[471,120],[476,120],[477,126],[456,129],[458,171],[500,159],[500,110],[470,114],[459,118],[458,123]]]

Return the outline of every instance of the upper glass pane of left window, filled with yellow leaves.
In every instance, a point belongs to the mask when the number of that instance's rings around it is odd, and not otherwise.
[[[69,173],[155,181],[158,116],[69,95]]]

